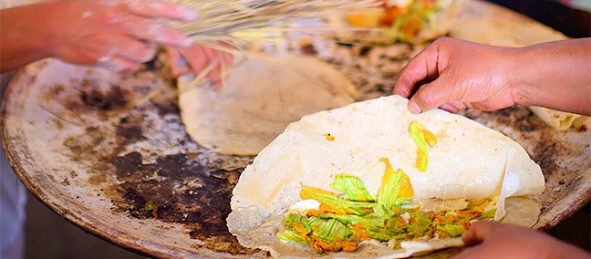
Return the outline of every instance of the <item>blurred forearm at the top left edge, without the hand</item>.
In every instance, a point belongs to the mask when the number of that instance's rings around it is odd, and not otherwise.
[[[43,5],[47,4],[0,10],[0,72],[51,56],[47,48],[51,32],[44,26],[49,21]]]

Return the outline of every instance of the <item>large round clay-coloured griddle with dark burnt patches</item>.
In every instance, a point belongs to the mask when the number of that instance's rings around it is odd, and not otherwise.
[[[534,24],[482,2],[472,2],[468,14]],[[316,53],[310,47],[300,50]],[[373,98],[389,93],[418,50],[339,45],[331,52],[338,55],[320,56]],[[57,60],[25,67],[1,110],[7,157],[40,201],[111,243],[153,257],[268,256],[241,246],[225,225],[233,186],[253,157],[221,155],[191,140],[171,85],[150,70],[119,76]],[[464,115],[516,140],[542,167],[543,210],[534,228],[548,230],[589,201],[590,131],[555,131],[523,107]]]

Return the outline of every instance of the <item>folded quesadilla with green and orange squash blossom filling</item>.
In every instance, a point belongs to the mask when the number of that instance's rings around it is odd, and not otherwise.
[[[233,189],[230,232],[274,256],[397,258],[459,246],[474,220],[535,223],[544,176],[519,144],[407,104],[377,98],[290,124]]]

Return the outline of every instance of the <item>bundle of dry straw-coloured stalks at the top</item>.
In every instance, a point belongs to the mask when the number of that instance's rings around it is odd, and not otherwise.
[[[177,24],[197,42],[244,41],[285,36],[286,25],[300,19],[326,18],[381,5],[378,0],[175,0],[195,9],[199,17]],[[328,25],[329,26],[329,25]],[[299,27],[300,31],[334,31],[330,27]],[[263,32],[263,33],[261,33]]]

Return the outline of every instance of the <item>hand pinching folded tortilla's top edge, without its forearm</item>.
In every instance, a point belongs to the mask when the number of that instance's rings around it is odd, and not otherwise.
[[[413,113],[438,107],[450,112],[510,107],[515,104],[508,76],[514,51],[439,38],[402,69],[393,93],[412,96],[409,109]]]

